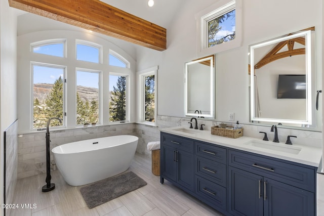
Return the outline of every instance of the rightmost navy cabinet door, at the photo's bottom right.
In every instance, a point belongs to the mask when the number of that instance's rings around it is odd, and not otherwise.
[[[264,215],[314,215],[314,193],[264,178]]]

